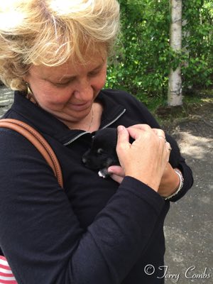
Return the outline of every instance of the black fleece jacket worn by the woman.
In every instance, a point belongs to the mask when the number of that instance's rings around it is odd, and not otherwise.
[[[103,90],[103,127],[144,123],[159,128],[146,107],[126,92]],[[169,202],[134,178],[121,185],[84,167],[92,134],[70,130],[15,92],[4,118],[20,119],[50,143],[62,167],[64,188],[33,145],[0,129],[0,246],[20,284],[163,283],[163,222]],[[185,178],[180,199],[192,186]],[[145,273],[146,266],[155,273]],[[148,271],[149,272],[149,271]]]

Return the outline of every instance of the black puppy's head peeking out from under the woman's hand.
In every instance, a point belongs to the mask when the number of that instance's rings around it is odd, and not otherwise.
[[[100,170],[110,165],[118,165],[116,155],[116,129],[100,129],[92,137],[92,145],[82,156],[82,162],[87,168]]]

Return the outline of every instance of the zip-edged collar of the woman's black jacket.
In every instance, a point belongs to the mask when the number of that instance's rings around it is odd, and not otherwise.
[[[102,103],[104,109],[100,128],[105,128],[112,124],[125,111],[124,107],[116,104],[104,90],[98,94],[97,101]],[[15,111],[19,117],[21,116],[22,121],[37,129],[41,134],[56,138],[64,145],[68,145],[80,136],[88,133],[79,129],[70,130],[62,121],[56,119],[48,111],[41,109],[26,99],[22,92],[15,91],[11,110]]]

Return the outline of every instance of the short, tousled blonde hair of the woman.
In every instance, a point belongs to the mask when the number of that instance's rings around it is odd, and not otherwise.
[[[0,79],[26,90],[31,65],[109,55],[119,33],[116,0],[7,0],[0,4]]]

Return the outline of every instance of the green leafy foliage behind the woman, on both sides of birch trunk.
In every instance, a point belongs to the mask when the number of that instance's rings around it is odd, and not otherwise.
[[[182,63],[183,87],[207,87],[211,82],[212,0],[182,1],[183,47],[170,49],[168,0],[120,0],[121,37],[116,58],[109,61],[106,87],[126,89],[143,102],[163,97],[170,67]]]

